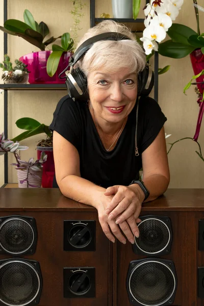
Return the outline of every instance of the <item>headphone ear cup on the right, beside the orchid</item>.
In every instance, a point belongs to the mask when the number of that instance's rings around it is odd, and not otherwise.
[[[155,83],[155,74],[146,65],[144,70],[138,73],[138,96],[149,95]]]

